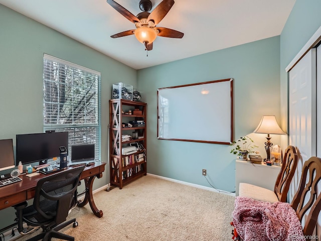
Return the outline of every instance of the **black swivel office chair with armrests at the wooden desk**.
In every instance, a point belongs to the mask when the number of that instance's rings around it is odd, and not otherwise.
[[[58,232],[76,219],[66,221],[69,210],[77,205],[77,186],[79,176],[85,166],[68,169],[40,179],[37,183],[33,205],[26,203],[17,205],[18,231],[30,233],[34,228],[42,227],[43,232],[28,239],[28,241],[51,240],[52,237],[71,240],[75,238]],[[23,221],[28,228],[23,227]],[[30,226],[32,228],[30,228]]]

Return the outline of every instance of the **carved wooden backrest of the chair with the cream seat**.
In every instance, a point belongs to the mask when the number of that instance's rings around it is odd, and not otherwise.
[[[295,147],[288,146],[284,151],[281,170],[276,178],[274,193],[280,202],[285,202],[290,188],[291,180],[294,176],[298,156]]]

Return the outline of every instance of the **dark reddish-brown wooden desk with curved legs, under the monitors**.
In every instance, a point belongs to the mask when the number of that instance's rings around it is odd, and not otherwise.
[[[85,181],[86,191],[85,198],[83,201],[78,203],[78,206],[83,207],[88,202],[91,207],[91,210],[97,217],[102,217],[102,210],[99,210],[96,207],[96,204],[92,195],[92,184],[95,177],[101,178],[102,173],[105,170],[106,163],[104,162],[95,162],[91,164],[90,167],[85,167],[84,171],[80,175],[80,180]],[[67,167],[67,169],[72,167]],[[35,196],[37,182],[51,174],[42,174],[34,177],[27,177],[26,175],[20,175],[22,181],[9,184],[0,188],[0,210],[7,207],[14,206],[16,204],[22,203],[26,200],[32,199]]]

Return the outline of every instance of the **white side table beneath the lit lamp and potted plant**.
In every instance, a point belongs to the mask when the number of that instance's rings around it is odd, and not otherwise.
[[[274,191],[274,185],[281,166],[253,164],[250,161],[235,162],[235,195],[239,195],[239,183],[245,182]]]

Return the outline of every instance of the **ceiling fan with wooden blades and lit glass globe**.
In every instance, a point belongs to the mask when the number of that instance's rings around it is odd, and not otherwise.
[[[137,40],[144,44],[145,50],[152,50],[152,42],[157,36],[179,39],[184,36],[183,33],[173,29],[156,27],[173,7],[174,0],[163,0],[151,13],[148,13],[152,8],[150,0],[140,0],[139,9],[142,12],[137,16],[134,16],[113,0],[107,0],[107,3],[136,26],[136,29],[111,35],[111,38],[134,34]]]

